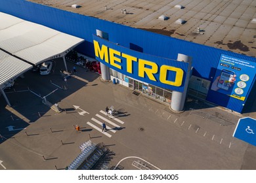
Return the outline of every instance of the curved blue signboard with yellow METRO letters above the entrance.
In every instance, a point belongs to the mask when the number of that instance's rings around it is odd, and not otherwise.
[[[183,92],[188,63],[137,52],[93,35],[95,58],[142,82]]]

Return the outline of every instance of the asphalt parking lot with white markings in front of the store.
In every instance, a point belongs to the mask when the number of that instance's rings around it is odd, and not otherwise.
[[[12,107],[0,96],[1,170],[65,169],[89,140],[110,150],[109,169],[141,169],[140,163],[150,169],[256,168],[255,146],[232,137],[242,115],[189,97],[185,111],[175,114],[81,67],[65,82],[60,69],[64,64],[56,60],[51,75],[29,71],[18,78],[7,92]],[[46,95],[63,111],[44,105]],[[113,119],[106,106],[117,111]],[[98,122],[106,120],[112,130],[102,133]]]

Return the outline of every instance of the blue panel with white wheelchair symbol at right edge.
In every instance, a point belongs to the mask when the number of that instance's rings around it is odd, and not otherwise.
[[[256,120],[253,118],[241,118],[236,125],[233,137],[256,146]]]

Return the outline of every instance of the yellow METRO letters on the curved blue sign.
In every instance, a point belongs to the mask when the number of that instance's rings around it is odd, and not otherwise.
[[[156,73],[160,71],[159,80],[163,84],[169,84],[171,86],[181,86],[184,71],[181,68],[173,67],[170,65],[161,65],[160,67],[153,61],[148,61],[145,59],[136,58],[128,54],[121,53],[113,48],[108,48],[108,46],[102,44],[101,48],[98,41],[93,41],[95,46],[95,56],[102,61],[116,67],[117,69],[124,72],[134,74],[134,63],[138,64],[138,76],[145,78],[145,75],[152,81],[156,80]],[[118,57],[117,57],[118,56]],[[124,71],[122,61],[126,61],[126,71]],[[167,80],[167,73],[169,71],[176,73],[176,78],[174,81]]]

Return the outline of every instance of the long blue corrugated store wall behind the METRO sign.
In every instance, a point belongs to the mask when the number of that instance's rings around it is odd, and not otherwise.
[[[96,29],[108,33],[108,40],[110,42],[116,42],[120,46],[137,52],[167,59],[177,59],[178,54],[190,56],[192,57],[192,75],[209,81],[210,86],[209,90],[207,90],[205,100],[236,112],[243,112],[243,108],[247,104],[248,96],[255,90],[256,69],[254,66],[256,58],[28,1],[1,0],[0,11],[85,39],[85,42],[77,46],[76,50],[92,58],[95,58],[93,35],[96,35]],[[235,65],[236,68],[232,67],[233,70],[237,69],[236,71],[245,68],[242,63],[249,63],[249,66],[246,67],[247,70],[245,70],[250,73],[248,77],[250,83],[247,84],[247,86],[245,85],[247,88],[243,99],[239,99],[238,95],[240,94],[230,97],[232,93],[211,90],[216,80],[215,74],[218,69],[221,69],[221,71],[226,70],[219,67],[219,65],[225,67],[222,56],[238,60]],[[230,61],[232,60],[230,59],[228,63],[230,63]],[[228,68],[228,70],[232,69]],[[221,73],[221,75],[224,74]],[[233,76],[234,75],[235,74],[233,74]],[[242,73],[240,73],[240,75],[242,75]],[[240,78],[240,84],[246,83],[246,78],[239,76],[236,77],[236,81]],[[224,87],[221,89],[225,90]],[[238,92],[238,90],[236,91]],[[239,90],[239,92],[240,91],[241,90]]]

